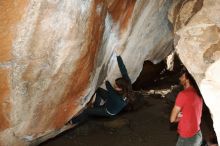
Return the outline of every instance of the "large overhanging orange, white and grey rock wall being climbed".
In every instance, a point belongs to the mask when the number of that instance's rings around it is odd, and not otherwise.
[[[105,79],[132,81],[172,49],[170,0],[1,0],[0,145],[37,145],[67,129]]]

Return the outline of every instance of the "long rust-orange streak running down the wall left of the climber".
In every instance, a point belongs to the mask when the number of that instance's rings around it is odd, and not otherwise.
[[[97,6],[100,6],[101,9],[99,13],[96,12]],[[63,123],[66,122],[65,117],[70,117],[72,115],[72,110],[76,108],[73,103],[78,100],[78,97],[83,95],[83,92],[89,83],[89,73],[94,69],[94,59],[100,48],[101,38],[104,31],[103,22],[106,15],[106,9],[102,0],[95,0],[91,7],[88,25],[95,27],[90,27],[88,29],[88,35],[85,41],[87,50],[82,54],[79,61],[76,62],[75,72],[73,72],[69,80],[70,90],[65,97],[66,102],[57,108],[57,113],[54,115],[54,117],[56,117],[54,119],[54,127],[62,127]],[[65,114],[63,112],[64,109],[67,109]]]

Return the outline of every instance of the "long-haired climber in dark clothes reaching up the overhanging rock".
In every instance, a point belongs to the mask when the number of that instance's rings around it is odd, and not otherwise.
[[[78,116],[73,117],[69,123],[77,124],[86,121],[89,116],[112,117],[120,113],[126,106],[133,107],[135,102],[134,92],[132,90],[131,80],[121,56],[117,56],[117,62],[122,77],[115,80],[112,87],[109,81],[105,82],[106,89],[98,88],[96,98],[92,106],[87,107]]]

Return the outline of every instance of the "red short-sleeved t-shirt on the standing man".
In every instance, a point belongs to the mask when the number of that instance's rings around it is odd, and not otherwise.
[[[200,130],[202,98],[189,87],[178,94],[175,105],[181,108],[183,115],[178,124],[178,133],[184,138],[194,136]]]

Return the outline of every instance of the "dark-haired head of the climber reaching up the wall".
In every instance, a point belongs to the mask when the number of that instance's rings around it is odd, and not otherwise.
[[[117,78],[115,80],[115,90],[116,91],[130,91],[131,90],[131,83],[126,80],[125,78]]]

